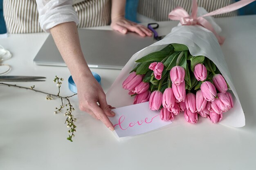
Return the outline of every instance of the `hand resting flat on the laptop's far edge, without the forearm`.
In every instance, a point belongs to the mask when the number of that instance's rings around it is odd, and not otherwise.
[[[126,20],[123,16],[112,18],[111,28],[126,34],[128,31],[136,32],[142,37],[152,36],[150,29],[146,28],[144,25],[139,25],[135,22]]]

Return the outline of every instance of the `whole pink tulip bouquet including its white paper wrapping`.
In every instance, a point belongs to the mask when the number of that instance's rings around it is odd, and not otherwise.
[[[123,107],[148,102],[152,114],[160,114],[163,121],[174,121],[184,112],[189,123],[203,117],[212,123],[243,127],[243,108],[220,47],[224,41],[218,36],[220,26],[211,16],[192,20],[207,14],[203,8],[181,19],[176,14],[169,16],[180,20],[177,27],[126,63],[106,94],[108,103]],[[200,25],[206,20],[212,29]]]

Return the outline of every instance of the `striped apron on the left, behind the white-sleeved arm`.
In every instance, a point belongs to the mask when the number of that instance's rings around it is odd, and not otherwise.
[[[110,24],[110,0],[73,0],[78,28]],[[4,20],[9,33],[43,32],[38,22],[36,0],[4,0]]]

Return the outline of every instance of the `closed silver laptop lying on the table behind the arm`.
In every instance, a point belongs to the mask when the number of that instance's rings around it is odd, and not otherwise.
[[[122,69],[133,54],[153,43],[153,37],[110,30],[79,29],[79,39],[90,68]],[[34,58],[37,65],[66,66],[52,35]]]

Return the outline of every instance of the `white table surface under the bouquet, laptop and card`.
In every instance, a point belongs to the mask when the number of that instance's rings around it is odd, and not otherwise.
[[[108,128],[79,111],[77,96],[71,99],[77,118],[74,142],[66,140],[65,116],[54,115],[58,99],[47,101],[45,94],[0,85],[0,170],[68,169],[256,169],[256,16],[218,18],[222,49],[238,92],[246,125],[230,128],[200,119],[186,123],[182,114],[175,126],[165,130],[118,141]],[[159,22],[165,35],[177,22]],[[109,29],[109,27],[104,27]],[[47,34],[12,34],[0,39],[13,57],[4,63],[12,69],[7,75],[46,76],[45,82],[13,83],[35,85],[57,93],[55,75],[63,77],[61,95],[72,94],[67,85],[67,67],[37,66],[33,59]],[[102,78],[105,92],[120,70],[92,69]]]

